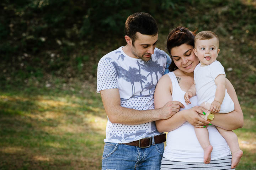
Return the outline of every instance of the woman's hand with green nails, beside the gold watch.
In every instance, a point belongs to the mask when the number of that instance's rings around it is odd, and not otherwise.
[[[206,115],[206,109],[200,106],[194,106],[191,109],[185,110],[184,119],[188,121],[191,125],[197,128],[202,128],[205,125],[210,124],[209,121],[203,119],[199,114]]]

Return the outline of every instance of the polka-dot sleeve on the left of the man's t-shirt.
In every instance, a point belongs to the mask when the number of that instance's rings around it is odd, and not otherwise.
[[[97,93],[112,88],[118,88],[116,69],[111,60],[102,58],[98,63]]]

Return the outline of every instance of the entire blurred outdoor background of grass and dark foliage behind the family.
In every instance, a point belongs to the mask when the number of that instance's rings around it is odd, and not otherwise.
[[[237,169],[256,169],[255,0],[1,0],[0,169],[100,169],[106,115],[97,63],[126,45],[134,12],[156,19],[162,50],[177,26],[219,36],[218,60],[246,123],[236,131],[245,151]]]

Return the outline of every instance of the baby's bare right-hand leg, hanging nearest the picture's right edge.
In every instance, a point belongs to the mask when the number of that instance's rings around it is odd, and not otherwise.
[[[222,135],[228,143],[228,146],[232,153],[231,168],[235,168],[243,155],[243,152],[239,147],[238,137],[233,131],[227,131],[220,127],[217,127],[217,129],[220,132],[220,135]]]

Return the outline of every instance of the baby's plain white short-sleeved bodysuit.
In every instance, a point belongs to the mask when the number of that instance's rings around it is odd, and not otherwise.
[[[217,60],[210,65],[201,66],[201,63],[199,63],[196,66],[194,69],[194,80],[196,83],[198,105],[202,104],[203,102],[212,103],[214,101],[217,89],[214,81],[215,78],[220,74],[224,74],[226,76],[224,67]],[[229,113],[234,109],[234,102],[225,90],[225,97],[222,105],[220,106],[219,113]]]

